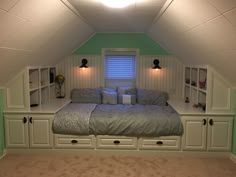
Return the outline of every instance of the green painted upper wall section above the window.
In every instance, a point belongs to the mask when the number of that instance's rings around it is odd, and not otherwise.
[[[96,33],[73,54],[100,55],[102,48],[139,48],[140,55],[169,55],[145,33]]]

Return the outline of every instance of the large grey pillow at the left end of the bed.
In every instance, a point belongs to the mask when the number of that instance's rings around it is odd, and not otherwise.
[[[73,103],[102,103],[102,94],[100,89],[81,88],[71,91],[71,100]]]

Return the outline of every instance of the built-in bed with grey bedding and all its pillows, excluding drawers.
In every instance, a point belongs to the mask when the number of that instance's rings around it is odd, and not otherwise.
[[[54,118],[53,132],[69,135],[159,137],[182,135],[180,116],[167,94],[134,88],[74,89],[72,103]]]

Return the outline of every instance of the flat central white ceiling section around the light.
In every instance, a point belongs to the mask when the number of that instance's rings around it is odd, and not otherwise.
[[[130,6],[109,8],[99,0],[68,0],[97,32],[145,32],[166,0],[137,1]]]

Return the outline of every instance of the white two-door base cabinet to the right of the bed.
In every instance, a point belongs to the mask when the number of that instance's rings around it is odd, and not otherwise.
[[[230,151],[232,116],[183,116],[183,150]]]

